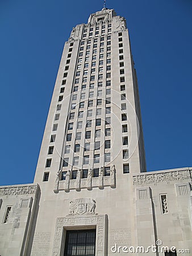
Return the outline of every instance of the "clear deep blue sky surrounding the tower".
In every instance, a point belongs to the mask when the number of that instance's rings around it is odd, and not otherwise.
[[[103,1],[0,1],[0,185],[32,183],[64,42]],[[148,171],[192,166],[191,0],[106,1],[127,19]]]

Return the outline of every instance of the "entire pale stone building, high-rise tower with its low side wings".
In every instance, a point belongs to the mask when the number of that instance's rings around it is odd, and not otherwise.
[[[192,251],[191,174],[146,172],[126,20],[102,9],[65,43],[34,183],[0,187],[0,254]]]

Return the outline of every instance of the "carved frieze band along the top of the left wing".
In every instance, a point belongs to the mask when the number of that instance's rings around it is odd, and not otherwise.
[[[35,194],[37,185],[23,185],[0,188],[0,196],[19,196]]]

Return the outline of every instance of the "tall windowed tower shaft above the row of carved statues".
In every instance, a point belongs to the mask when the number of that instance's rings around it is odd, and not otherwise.
[[[117,182],[145,171],[136,72],[126,20],[114,10],[90,15],[73,28],[62,53],[35,181],[93,177],[103,167]],[[47,187],[47,184],[44,184]]]

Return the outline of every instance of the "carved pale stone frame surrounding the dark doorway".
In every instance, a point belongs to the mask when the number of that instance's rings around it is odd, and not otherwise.
[[[82,226],[86,229],[86,226],[96,226],[96,242],[95,242],[95,255],[106,255],[106,215],[69,215],[64,218],[57,218],[55,237],[53,242],[52,256],[59,256],[61,253],[61,241],[66,228],[79,229]]]

